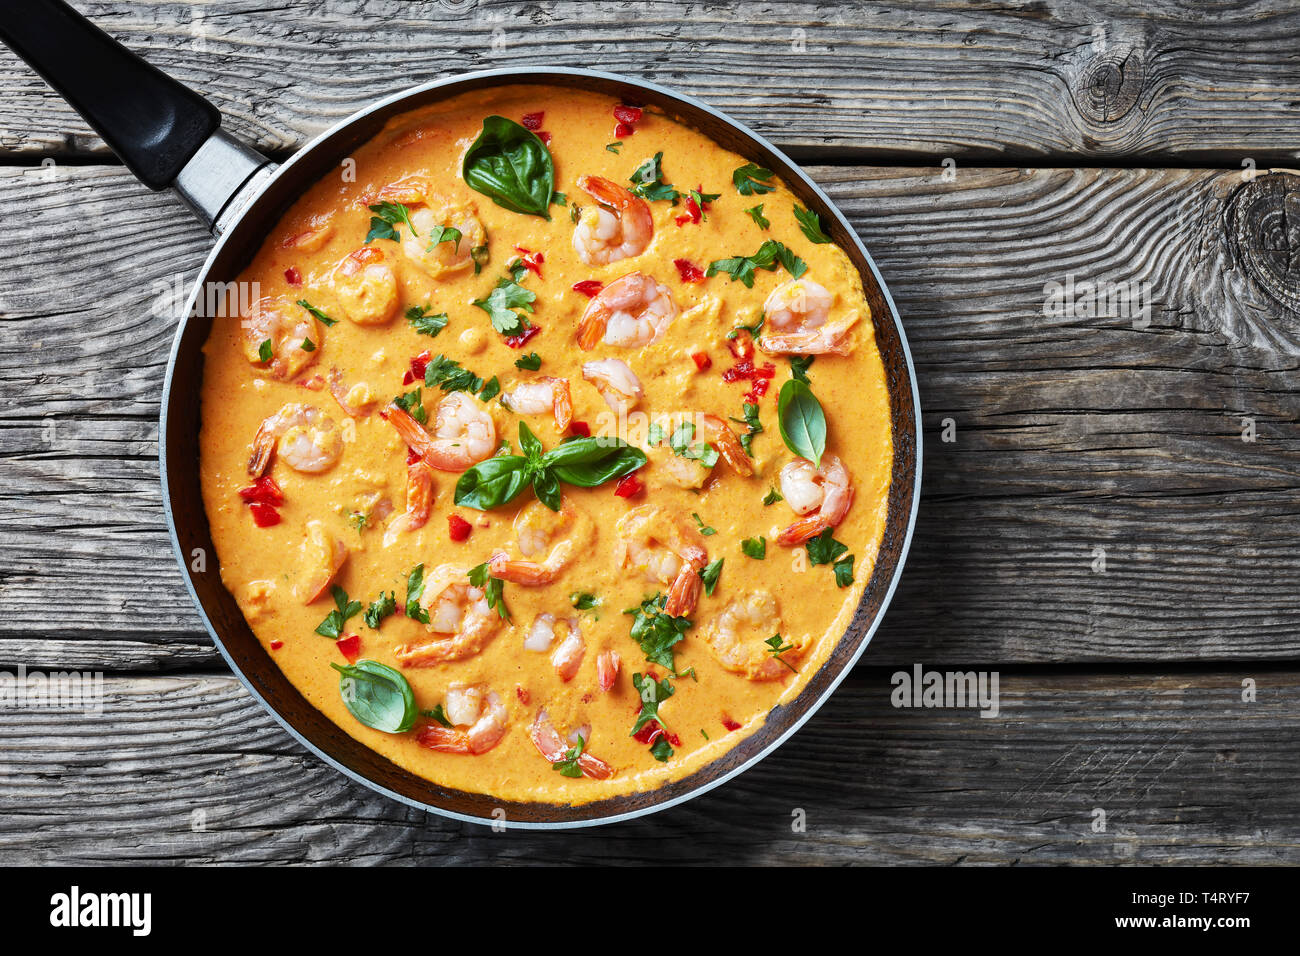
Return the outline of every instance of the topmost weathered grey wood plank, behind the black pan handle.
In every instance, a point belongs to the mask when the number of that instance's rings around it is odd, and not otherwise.
[[[1300,10],[1286,0],[75,5],[276,153],[406,86],[567,65],[673,86],[802,159],[1296,164]],[[10,157],[103,155],[8,51],[0,88]]]

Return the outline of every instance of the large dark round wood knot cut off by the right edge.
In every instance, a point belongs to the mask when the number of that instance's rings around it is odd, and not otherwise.
[[[1270,173],[1243,185],[1227,208],[1232,255],[1260,289],[1300,312],[1300,176]]]

